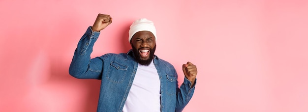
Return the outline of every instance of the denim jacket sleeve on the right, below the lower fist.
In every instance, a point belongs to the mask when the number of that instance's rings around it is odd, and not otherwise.
[[[196,82],[197,79],[195,80],[195,84],[190,88],[191,82],[185,78],[180,88],[177,87],[177,103],[175,112],[182,112],[184,110],[194,93]]]

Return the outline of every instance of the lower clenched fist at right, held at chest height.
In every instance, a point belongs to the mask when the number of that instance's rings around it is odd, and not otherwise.
[[[191,82],[192,87],[195,84],[196,76],[197,76],[197,66],[192,64],[191,62],[187,62],[183,64],[183,72],[186,77]]]

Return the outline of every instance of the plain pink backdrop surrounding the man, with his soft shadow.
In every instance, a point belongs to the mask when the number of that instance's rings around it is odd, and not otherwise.
[[[198,67],[184,112],[308,112],[307,0],[1,0],[0,112],[94,112],[99,80],[68,67],[98,13],[92,57],[130,49],[128,27],[154,21],[156,55]]]

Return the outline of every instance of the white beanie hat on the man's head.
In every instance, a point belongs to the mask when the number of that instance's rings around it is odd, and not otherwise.
[[[147,20],[145,18],[136,20],[131,26],[129,27],[128,31],[128,41],[130,42],[133,35],[138,31],[150,31],[155,36],[155,41],[157,40],[156,37],[156,29],[154,26],[154,23],[150,20]]]

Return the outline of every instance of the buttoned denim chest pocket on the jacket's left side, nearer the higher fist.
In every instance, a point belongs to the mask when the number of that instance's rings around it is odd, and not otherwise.
[[[106,78],[112,83],[123,83],[128,66],[111,62]]]

